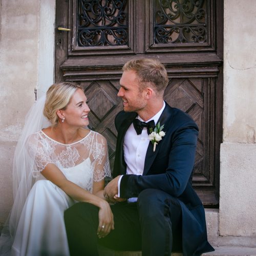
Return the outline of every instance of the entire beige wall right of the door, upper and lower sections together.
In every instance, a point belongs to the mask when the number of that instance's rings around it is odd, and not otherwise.
[[[256,237],[256,1],[224,1],[221,236]]]

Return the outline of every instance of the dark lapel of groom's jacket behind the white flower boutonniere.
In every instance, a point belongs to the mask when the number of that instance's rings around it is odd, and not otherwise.
[[[168,131],[168,125],[169,125],[169,120],[172,117],[172,109],[170,108],[170,106],[165,102],[165,108],[163,110],[163,113],[161,114],[159,120],[157,121],[160,122],[160,125],[164,124],[163,127],[163,132],[167,132]],[[156,123],[156,124],[157,124]],[[150,142],[150,144],[148,144],[147,147],[147,151],[146,151],[146,157],[145,157],[145,164],[144,164],[144,170],[143,170],[143,175],[146,175],[148,170],[150,170],[151,165],[153,164],[159,150],[161,147],[161,144],[164,143],[164,137],[162,138],[162,140],[160,140],[158,142],[158,144],[156,145],[156,150],[155,152],[153,152],[153,144]]]

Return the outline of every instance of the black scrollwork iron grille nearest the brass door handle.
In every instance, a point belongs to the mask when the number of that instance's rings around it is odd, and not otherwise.
[[[78,46],[127,45],[126,0],[78,0]]]

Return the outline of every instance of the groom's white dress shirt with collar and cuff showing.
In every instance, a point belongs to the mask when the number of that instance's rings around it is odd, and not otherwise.
[[[165,108],[165,102],[163,101],[162,109],[151,119],[148,119],[146,123],[151,120],[154,120],[156,125],[164,108]],[[136,118],[144,122],[144,120],[142,120],[140,116],[137,116]],[[148,143],[150,143],[150,140],[148,139],[146,127],[143,128],[141,134],[137,135],[132,123],[128,128],[128,130],[126,131],[124,136],[124,141],[123,141],[124,161],[127,166],[126,174],[135,174],[135,175],[143,174]],[[118,180],[118,197],[120,197],[120,183],[121,183],[122,177],[123,176],[121,176]],[[136,202],[137,198],[130,198],[128,201]]]

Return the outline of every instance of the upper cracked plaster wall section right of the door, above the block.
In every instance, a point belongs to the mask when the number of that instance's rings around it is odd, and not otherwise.
[[[256,2],[224,2],[224,141],[256,143]]]

